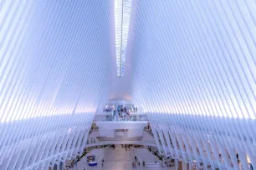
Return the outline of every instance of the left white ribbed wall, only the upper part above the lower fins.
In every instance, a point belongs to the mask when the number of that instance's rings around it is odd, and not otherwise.
[[[110,2],[0,7],[1,122],[95,112],[107,87]]]

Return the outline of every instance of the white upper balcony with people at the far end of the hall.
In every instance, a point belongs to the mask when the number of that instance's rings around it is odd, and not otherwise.
[[[95,115],[100,137],[115,138],[120,135],[126,138],[142,136],[143,129],[148,125],[146,114],[131,103],[106,104]],[[124,132],[125,133],[124,133]]]

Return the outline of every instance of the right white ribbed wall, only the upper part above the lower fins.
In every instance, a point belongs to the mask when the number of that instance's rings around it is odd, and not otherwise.
[[[256,5],[137,1],[133,93],[146,112],[256,116]]]

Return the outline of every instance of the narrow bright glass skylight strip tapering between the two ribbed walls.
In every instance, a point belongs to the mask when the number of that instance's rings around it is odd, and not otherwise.
[[[115,0],[115,47],[117,76],[124,75],[127,38],[131,18],[131,0]]]

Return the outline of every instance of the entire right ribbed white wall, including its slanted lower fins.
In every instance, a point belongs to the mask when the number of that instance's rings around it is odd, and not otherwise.
[[[246,169],[247,158],[256,167],[255,1],[136,1],[134,10],[132,98],[162,151],[206,168]]]

